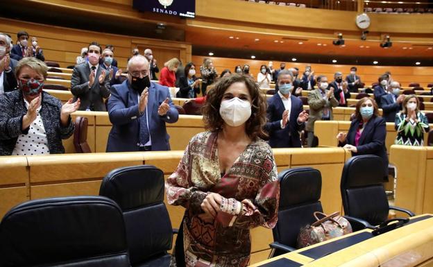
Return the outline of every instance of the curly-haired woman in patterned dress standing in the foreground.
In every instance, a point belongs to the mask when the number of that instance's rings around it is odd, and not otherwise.
[[[248,266],[250,229],[277,222],[280,184],[262,140],[266,101],[254,80],[221,78],[203,107],[207,132],[194,136],[167,179],[171,205],[186,208],[186,266]]]

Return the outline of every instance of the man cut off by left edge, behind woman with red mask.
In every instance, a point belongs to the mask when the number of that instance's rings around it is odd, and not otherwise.
[[[10,58],[10,37],[0,33],[0,94],[10,92],[17,87],[14,70],[17,60]]]

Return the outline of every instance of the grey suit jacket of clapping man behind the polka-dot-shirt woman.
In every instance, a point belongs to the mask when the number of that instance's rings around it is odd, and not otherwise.
[[[94,111],[107,111],[103,98],[110,96],[110,77],[105,76],[105,80],[100,85],[98,79],[103,70],[100,64],[96,70],[95,81],[92,87],[89,87],[89,64],[85,62],[74,67],[71,77],[71,93],[74,95],[74,101],[76,98],[81,100],[78,110],[86,110],[89,107]]]

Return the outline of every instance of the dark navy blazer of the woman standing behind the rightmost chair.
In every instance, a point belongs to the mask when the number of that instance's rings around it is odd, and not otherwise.
[[[345,144],[350,144],[355,146],[355,135],[359,128],[358,119],[354,119],[350,124],[349,132],[346,137],[346,143],[339,144],[343,146]],[[353,156],[356,155],[377,155],[381,157],[384,161],[384,176],[388,176],[388,155],[387,147],[385,146],[385,138],[387,137],[387,123],[382,117],[371,117],[368,120],[367,125],[364,126],[364,131],[359,138],[357,153],[352,153]]]

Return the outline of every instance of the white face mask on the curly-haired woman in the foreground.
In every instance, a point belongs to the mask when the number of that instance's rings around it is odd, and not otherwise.
[[[241,126],[251,117],[251,103],[237,97],[221,101],[219,114],[229,126]]]

